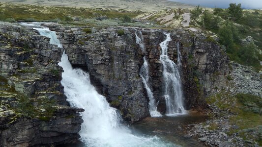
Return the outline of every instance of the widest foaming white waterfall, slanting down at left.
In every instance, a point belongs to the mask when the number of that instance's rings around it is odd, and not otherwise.
[[[54,31],[48,28],[35,29],[41,35],[51,38],[50,44],[62,48]],[[81,114],[84,123],[79,133],[87,147],[178,147],[156,136],[132,134],[130,129],[119,123],[121,118],[116,109],[110,107],[106,98],[96,92],[88,73],[73,69],[65,53],[58,65],[64,71],[61,84],[70,105],[85,109]]]

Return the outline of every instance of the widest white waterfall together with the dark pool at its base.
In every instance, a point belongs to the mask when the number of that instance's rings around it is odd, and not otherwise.
[[[23,24],[25,25],[25,24]],[[54,31],[38,24],[27,25],[40,35],[51,38],[50,44],[62,48]],[[188,124],[203,122],[205,118],[188,113],[175,117],[147,118],[130,126],[120,123],[121,117],[110,107],[106,98],[99,95],[90,83],[90,76],[81,69],[73,69],[66,53],[61,62],[63,68],[61,84],[72,107],[85,109],[81,113],[84,123],[79,132],[83,144],[60,147],[200,147],[198,141],[183,137]]]

